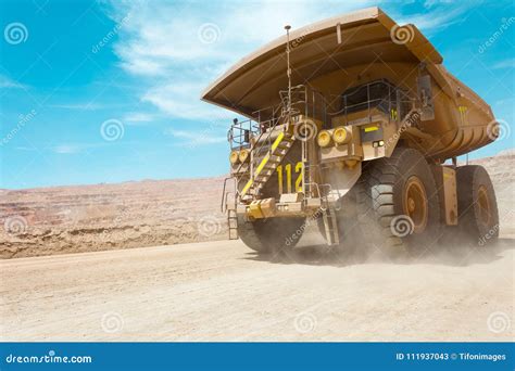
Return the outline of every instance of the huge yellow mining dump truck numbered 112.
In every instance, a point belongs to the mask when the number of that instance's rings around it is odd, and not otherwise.
[[[416,26],[370,8],[285,28],[202,94],[248,118],[228,131],[230,239],[284,251],[311,220],[342,248],[498,236],[487,171],[456,156],[492,142],[499,125]]]

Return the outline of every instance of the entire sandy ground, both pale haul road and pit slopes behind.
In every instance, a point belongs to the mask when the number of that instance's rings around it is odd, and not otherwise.
[[[0,240],[0,341],[513,341],[514,157],[479,161],[497,244],[405,263],[313,233],[260,257],[224,240],[222,179],[4,191],[2,217],[27,222]]]

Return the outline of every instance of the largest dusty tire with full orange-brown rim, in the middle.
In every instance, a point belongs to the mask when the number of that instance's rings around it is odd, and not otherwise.
[[[431,169],[414,149],[364,165],[356,183],[363,238],[372,252],[389,257],[414,255],[441,236],[440,205]]]

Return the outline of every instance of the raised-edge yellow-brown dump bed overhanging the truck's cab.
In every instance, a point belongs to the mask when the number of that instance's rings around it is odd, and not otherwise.
[[[443,67],[442,56],[416,26],[399,27],[379,8],[299,28],[290,40],[292,84],[315,88],[335,112],[343,90],[376,79],[386,78],[416,94],[424,64],[431,76],[435,118],[423,123],[418,149],[443,161],[493,140],[488,135],[490,106]],[[286,42],[280,37],[240,60],[202,99],[247,117],[278,104],[278,91],[288,85]]]

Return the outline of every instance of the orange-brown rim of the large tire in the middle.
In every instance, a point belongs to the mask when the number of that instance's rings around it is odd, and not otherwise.
[[[424,183],[416,176],[410,177],[404,187],[403,209],[413,221],[413,232],[423,232],[428,217],[427,196]]]

